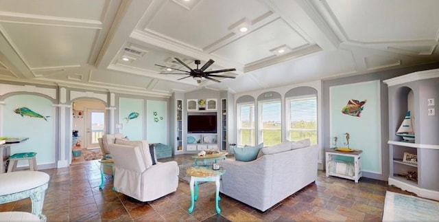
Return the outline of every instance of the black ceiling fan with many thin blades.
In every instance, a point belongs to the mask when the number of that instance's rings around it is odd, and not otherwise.
[[[221,81],[216,80],[215,78],[212,78],[212,77],[235,78],[235,76],[215,75],[217,73],[225,72],[225,71],[236,71],[235,68],[233,68],[233,69],[219,69],[219,70],[213,70],[213,71],[205,71],[213,63],[215,63],[215,61],[211,60],[211,59],[209,59],[209,61],[207,61],[207,63],[205,63],[200,69],[198,68],[198,65],[200,65],[200,63],[201,63],[200,60],[195,60],[195,64],[197,65],[197,68],[196,69],[192,69],[191,67],[189,67],[189,65],[187,65],[186,63],[183,63],[183,61],[180,60],[179,58],[175,58],[174,57],[174,59],[177,60],[178,63],[180,63],[181,65],[184,65],[185,67],[187,67],[190,71],[185,71],[185,70],[182,70],[182,69],[176,69],[176,68],[172,68],[172,67],[167,67],[167,66],[164,66],[164,65],[157,65],[157,64],[155,64],[155,65],[159,66],[159,67],[164,67],[164,68],[167,68],[167,69],[174,69],[174,70],[184,71],[185,72],[185,73],[179,73],[179,75],[182,75],[182,74],[183,75],[189,75],[189,76],[186,76],[186,77],[183,77],[183,78],[179,78],[178,80],[182,80],[182,79],[185,79],[185,78],[192,77],[194,80],[197,80],[197,82],[200,83],[201,82],[201,78],[206,78],[208,80],[212,80],[212,81],[215,81],[215,82],[221,82]],[[165,74],[170,74],[170,73],[165,73]]]

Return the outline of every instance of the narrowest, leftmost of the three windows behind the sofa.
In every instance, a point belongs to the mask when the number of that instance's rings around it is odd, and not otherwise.
[[[254,146],[254,103],[237,104],[237,111],[237,144]]]

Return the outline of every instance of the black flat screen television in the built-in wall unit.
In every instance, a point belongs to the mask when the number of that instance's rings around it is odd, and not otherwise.
[[[188,115],[187,133],[217,133],[217,115]]]

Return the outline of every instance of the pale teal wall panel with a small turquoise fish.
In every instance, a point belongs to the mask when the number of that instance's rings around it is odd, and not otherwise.
[[[132,120],[127,120],[132,112],[139,113],[139,116]],[[143,140],[144,116],[142,99],[119,98],[119,122],[122,124],[120,133],[128,136],[130,140]]]

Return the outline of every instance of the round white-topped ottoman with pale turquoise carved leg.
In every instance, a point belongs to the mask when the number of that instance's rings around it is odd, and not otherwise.
[[[41,221],[45,221],[46,217],[42,211],[49,178],[47,173],[40,171],[16,171],[0,174],[0,204],[30,197],[32,214],[38,216]]]

